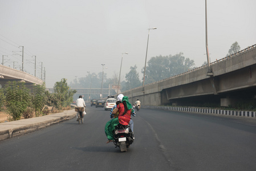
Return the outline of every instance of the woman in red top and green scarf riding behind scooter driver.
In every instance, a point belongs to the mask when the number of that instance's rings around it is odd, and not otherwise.
[[[128,101],[128,97],[124,96],[122,99],[122,103],[118,104],[116,109],[113,110],[113,114],[119,112],[118,117],[115,119],[111,119],[105,125],[105,135],[108,138],[107,143],[112,142],[114,140],[113,130],[115,130],[116,125],[119,123],[122,125],[128,125],[131,120],[131,111],[132,105]]]

